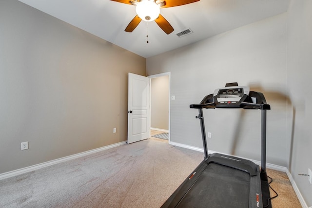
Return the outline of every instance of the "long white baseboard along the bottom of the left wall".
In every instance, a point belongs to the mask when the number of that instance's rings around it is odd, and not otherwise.
[[[116,143],[116,144],[111,144],[111,145],[108,145],[108,146],[100,147],[100,148],[97,148],[97,149],[89,150],[89,151],[78,153],[78,154],[71,155],[71,156],[61,157],[59,159],[50,160],[50,161],[43,162],[43,163],[40,163],[40,164],[37,164],[37,165],[32,165],[32,166],[29,166],[29,167],[21,168],[21,169],[15,170],[15,171],[1,173],[0,174],[0,180],[4,179],[4,178],[13,177],[13,176],[16,176],[16,175],[19,175],[19,174],[22,174],[22,173],[28,173],[28,172],[31,172],[31,171],[34,171],[34,170],[38,170],[38,169],[43,168],[43,167],[48,167],[48,166],[51,166],[51,165],[55,165],[55,164],[58,164],[58,163],[61,163],[61,162],[67,161],[67,160],[75,159],[75,158],[78,158],[78,157],[81,157],[81,156],[87,156],[87,155],[90,155],[90,154],[93,154],[93,153],[97,153],[97,152],[100,152],[100,151],[103,151],[103,150],[111,149],[113,147],[117,147],[117,146],[120,146],[120,145],[123,145],[123,144],[126,144],[126,143],[127,143],[126,141],[122,141],[122,142],[119,142],[119,143]]]

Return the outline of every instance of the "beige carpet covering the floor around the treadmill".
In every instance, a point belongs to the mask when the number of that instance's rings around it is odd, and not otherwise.
[[[147,139],[0,180],[4,208],[159,208],[203,154]],[[300,208],[285,173],[268,171],[273,208]]]

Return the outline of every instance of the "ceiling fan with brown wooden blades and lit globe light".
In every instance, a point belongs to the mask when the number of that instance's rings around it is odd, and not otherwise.
[[[132,4],[136,6],[137,15],[126,27],[125,31],[131,33],[136,29],[137,25],[144,21],[154,21],[166,33],[170,34],[174,28],[170,23],[160,15],[160,8],[181,6],[193,3],[199,0],[112,0],[120,3]]]

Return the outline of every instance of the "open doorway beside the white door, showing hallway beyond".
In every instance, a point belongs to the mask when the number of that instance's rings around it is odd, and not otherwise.
[[[151,78],[150,125],[151,137],[170,142],[170,72],[148,76]]]

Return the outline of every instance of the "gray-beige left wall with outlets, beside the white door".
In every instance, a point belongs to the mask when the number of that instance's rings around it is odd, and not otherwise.
[[[0,173],[125,141],[128,72],[145,68],[141,56],[1,0]]]

